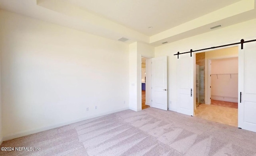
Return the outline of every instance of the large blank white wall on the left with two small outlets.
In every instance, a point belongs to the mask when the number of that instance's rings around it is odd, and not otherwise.
[[[0,21],[4,139],[128,109],[128,45],[3,10]]]

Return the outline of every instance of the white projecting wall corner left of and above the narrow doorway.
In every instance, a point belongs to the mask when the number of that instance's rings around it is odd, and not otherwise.
[[[130,44],[130,109],[140,111],[141,108],[141,57],[154,57],[154,47],[145,43]]]

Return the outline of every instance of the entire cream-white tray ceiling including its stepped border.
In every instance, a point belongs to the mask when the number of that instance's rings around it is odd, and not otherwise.
[[[256,0],[0,0],[0,9],[152,46],[256,18]],[[148,29],[148,27],[153,27]],[[217,28],[217,29],[221,29]]]

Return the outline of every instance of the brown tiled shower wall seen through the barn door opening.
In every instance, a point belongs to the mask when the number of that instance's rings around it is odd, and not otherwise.
[[[199,65],[199,103],[205,103],[205,53],[196,54],[196,64]]]

